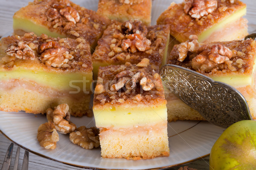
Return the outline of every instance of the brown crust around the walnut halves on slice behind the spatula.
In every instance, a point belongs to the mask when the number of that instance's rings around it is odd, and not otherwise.
[[[211,70],[211,72],[206,73],[200,69],[195,70],[192,68],[192,59],[198,56],[199,54],[209,55],[211,53],[211,49],[214,45],[223,45],[230,49],[231,58],[229,62],[231,62],[231,66],[229,67],[227,63],[218,64],[215,68]],[[194,52],[188,52],[188,56],[183,62],[178,61],[179,58],[179,47],[180,45],[175,45],[172,49],[168,59],[167,64],[180,65],[185,68],[192,69],[199,73],[205,74],[207,76],[214,76],[219,74],[252,74],[253,65],[256,54],[256,42],[252,39],[248,40],[233,40],[227,42],[212,42],[209,44],[201,44],[201,47]],[[234,70],[230,70],[230,68]]]

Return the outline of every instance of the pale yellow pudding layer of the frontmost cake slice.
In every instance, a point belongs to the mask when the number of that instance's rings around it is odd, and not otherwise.
[[[96,108],[93,106],[96,127],[126,128],[134,125],[150,125],[167,118],[166,105],[119,106]]]

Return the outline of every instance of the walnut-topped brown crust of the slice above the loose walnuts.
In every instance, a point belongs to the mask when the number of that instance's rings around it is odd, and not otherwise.
[[[14,49],[15,48],[15,49]],[[90,46],[82,38],[51,38],[26,33],[1,40],[0,68],[43,69],[54,72],[91,72]]]

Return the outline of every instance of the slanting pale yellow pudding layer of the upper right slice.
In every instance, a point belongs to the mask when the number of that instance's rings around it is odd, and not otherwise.
[[[198,42],[204,42],[205,40],[207,40],[209,36],[211,36],[213,32],[221,30],[222,28],[226,27],[229,23],[235,22],[245,14],[246,14],[246,6],[237,10],[235,13],[231,14],[230,16],[223,18],[219,23],[215,23],[215,25],[203,31],[200,35],[198,35]],[[179,41],[183,42],[181,40]]]

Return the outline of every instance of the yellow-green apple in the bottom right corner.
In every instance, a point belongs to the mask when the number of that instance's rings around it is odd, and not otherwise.
[[[210,170],[256,170],[256,121],[228,127],[210,153]]]

